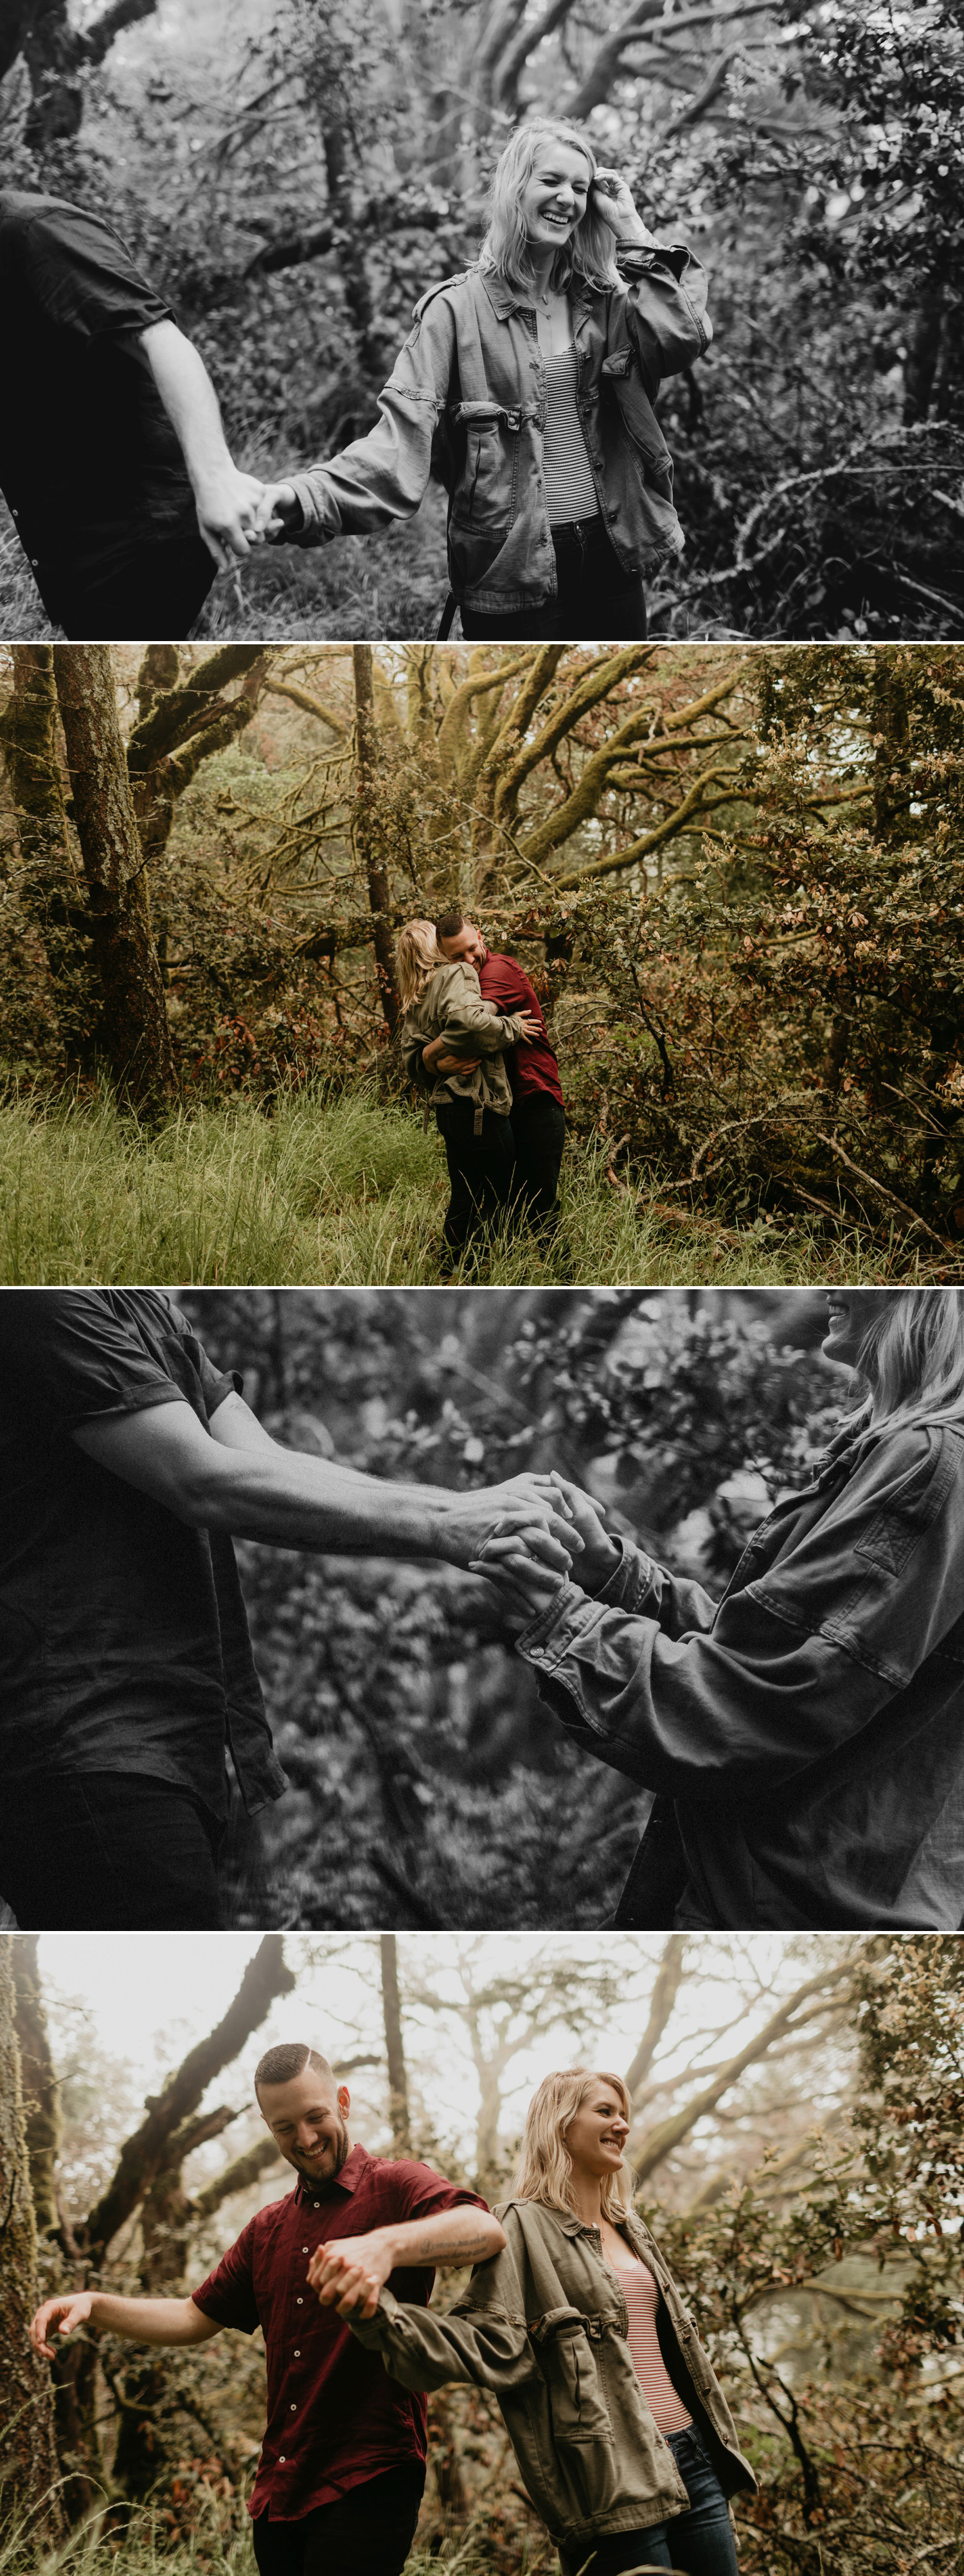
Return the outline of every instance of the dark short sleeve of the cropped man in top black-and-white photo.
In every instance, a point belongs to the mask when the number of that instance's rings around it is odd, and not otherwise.
[[[23,286],[36,312],[77,345],[103,332],[144,332],[173,322],[173,309],[134,265],[98,214],[44,206],[21,237]]]

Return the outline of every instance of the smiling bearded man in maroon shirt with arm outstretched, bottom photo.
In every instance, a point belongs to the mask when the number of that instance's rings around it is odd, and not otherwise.
[[[299,2182],[247,2221],[191,2298],[80,2290],[36,2311],[31,2342],[90,2321],[139,2344],[206,2344],[222,2326],[263,2329],[268,2427],[250,2514],[260,2576],[400,2576],[425,2483],[425,2398],[387,2378],[307,2272],[322,2246],[366,2280],[428,2306],[436,2264],[487,2262],[505,2244],[477,2192],[410,2156],[369,2156],[348,2138],[348,2087],[307,2045],[268,2048],[260,2115]]]

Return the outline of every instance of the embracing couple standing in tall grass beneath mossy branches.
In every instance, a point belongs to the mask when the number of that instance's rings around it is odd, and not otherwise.
[[[492,953],[461,912],[405,922],[397,940],[402,1064],[446,1144],[446,1252],[490,1224],[557,1224],[564,1149],[559,1064],[536,992],[516,958]]]

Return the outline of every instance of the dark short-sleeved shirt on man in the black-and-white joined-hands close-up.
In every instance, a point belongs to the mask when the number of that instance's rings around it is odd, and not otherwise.
[[[253,1811],[286,1788],[235,1548],[98,1466],[82,1422],[240,1388],[152,1288],[0,1291],[3,1777],[139,1772],[227,1816],[227,1752]]]

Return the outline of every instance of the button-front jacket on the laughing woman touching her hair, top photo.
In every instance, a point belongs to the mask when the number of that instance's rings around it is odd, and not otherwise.
[[[706,273],[678,242],[616,252],[619,286],[572,294],[577,415],[598,507],[626,574],[683,551],[673,459],[652,404],[660,379],[709,345]],[[541,440],[546,366],[536,309],[490,268],[433,286],[415,309],[379,420],[327,464],[294,474],[312,546],[407,518],[430,464],[448,482],[448,582],[459,605],[510,616],[557,595]]]

